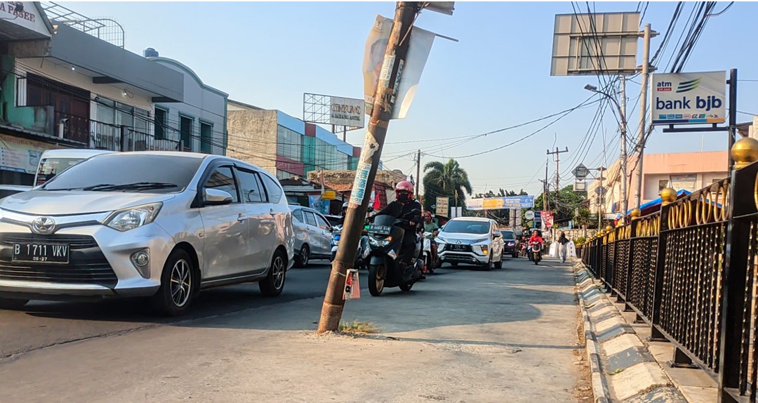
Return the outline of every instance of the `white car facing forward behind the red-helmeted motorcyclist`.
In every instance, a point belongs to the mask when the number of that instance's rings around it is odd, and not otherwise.
[[[493,219],[456,217],[437,235],[437,251],[441,263],[469,263],[484,269],[503,267],[503,235]]]

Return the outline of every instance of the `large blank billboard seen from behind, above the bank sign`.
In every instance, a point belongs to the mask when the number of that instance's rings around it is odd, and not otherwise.
[[[640,13],[557,14],[551,76],[634,74]]]

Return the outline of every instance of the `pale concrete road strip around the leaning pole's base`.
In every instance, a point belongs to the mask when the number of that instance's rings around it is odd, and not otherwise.
[[[17,357],[0,363],[0,401],[576,401],[570,265],[440,273],[372,298],[361,272],[343,320],[378,334],[319,337],[321,298],[277,304]]]

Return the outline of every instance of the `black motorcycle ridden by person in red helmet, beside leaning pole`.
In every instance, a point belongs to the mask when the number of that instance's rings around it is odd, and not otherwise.
[[[418,213],[418,210],[414,210],[409,216]],[[424,261],[419,259],[421,236],[415,234],[416,244],[411,252],[412,256],[399,254],[402,238],[406,233],[400,224],[407,225],[408,222],[407,219],[396,219],[393,216],[375,216],[374,222],[368,226],[368,243],[371,247],[368,260],[368,291],[374,297],[381,295],[385,287],[399,287],[402,291],[411,291],[415,282],[423,275]],[[405,266],[406,264],[410,266]]]

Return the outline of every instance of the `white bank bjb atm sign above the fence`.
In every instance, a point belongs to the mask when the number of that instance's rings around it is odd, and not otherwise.
[[[724,123],[726,71],[653,74],[653,124]]]

